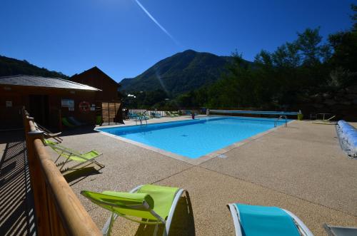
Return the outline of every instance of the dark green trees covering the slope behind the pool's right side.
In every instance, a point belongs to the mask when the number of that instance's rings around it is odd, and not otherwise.
[[[253,63],[233,53],[221,79],[171,98],[162,90],[125,96],[133,108],[289,108],[319,93],[342,93],[357,83],[357,6],[351,29],[323,39],[319,28],[297,33],[276,51],[262,50]],[[357,101],[357,100],[356,100]]]

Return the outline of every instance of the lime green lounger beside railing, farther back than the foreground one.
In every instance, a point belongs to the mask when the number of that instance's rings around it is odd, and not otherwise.
[[[102,153],[99,153],[97,150],[91,150],[88,153],[81,154],[81,153],[76,152],[75,150],[66,148],[66,147],[59,145],[58,143],[55,143],[48,139],[44,139],[44,144],[49,146],[50,148],[52,148],[52,150],[54,150],[56,153],[59,154],[59,157],[56,159],[55,163],[57,166],[60,167],[59,171],[61,173],[66,173],[70,170],[74,170],[75,168],[79,167],[80,165],[91,164],[91,163],[98,165],[100,168],[105,167],[105,165],[103,165],[95,160],[99,156],[103,155]],[[61,163],[58,163],[60,157],[66,158],[66,160]],[[78,164],[71,166],[69,168],[64,168],[64,166],[71,161],[76,161],[76,162],[78,162]]]

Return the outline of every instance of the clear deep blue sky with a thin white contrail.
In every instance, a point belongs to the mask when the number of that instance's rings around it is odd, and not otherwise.
[[[296,32],[348,29],[345,0],[1,0],[0,55],[66,75],[99,66],[116,81],[188,48],[253,60]],[[165,32],[166,30],[166,32]],[[166,34],[167,33],[167,34]],[[169,36],[171,35],[171,37]]]

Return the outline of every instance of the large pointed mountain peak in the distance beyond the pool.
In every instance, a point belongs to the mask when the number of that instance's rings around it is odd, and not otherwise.
[[[163,89],[175,96],[217,81],[229,61],[230,56],[183,51],[159,61],[135,78],[124,78],[121,91]]]

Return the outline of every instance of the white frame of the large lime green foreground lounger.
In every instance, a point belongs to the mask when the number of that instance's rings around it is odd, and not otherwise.
[[[129,193],[136,193],[141,187],[143,187],[144,185],[139,185],[136,188],[133,188]],[[188,192],[185,189],[179,188],[176,193],[175,193],[175,197],[174,200],[172,202],[170,211],[169,211],[169,215],[167,217],[167,220],[163,219],[162,217],[160,217],[154,210],[150,210],[151,214],[154,215],[155,217],[157,217],[158,221],[154,222],[154,221],[142,221],[142,220],[134,220],[126,215],[120,215],[121,217],[124,217],[128,220],[137,222],[139,224],[145,224],[145,225],[155,225],[155,230],[154,230],[154,235],[157,235],[157,230],[159,227],[159,224],[163,224],[165,225],[164,227],[164,232],[163,235],[169,235],[169,230],[170,230],[170,226],[171,226],[171,221],[172,221],[172,217],[174,217],[174,212],[176,210],[176,206],[178,203],[178,200],[180,200],[180,197],[183,195],[183,193],[186,194],[186,197],[188,197]],[[103,204],[108,205],[108,202],[102,202]],[[113,205],[116,206],[116,205]],[[143,205],[138,205],[138,206],[134,206],[133,208],[137,208],[137,207],[144,207],[145,209],[149,209],[149,204],[147,204],[145,201],[143,203]],[[105,236],[109,236],[111,235],[111,230],[113,228],[113,224],[114,221],[116,220],[116,218],[119,215],[112,212],[111,216],[108,218],[108,220],[106,220],[106,223],[103,227],[103,229],[101,230],[101,233]]]

